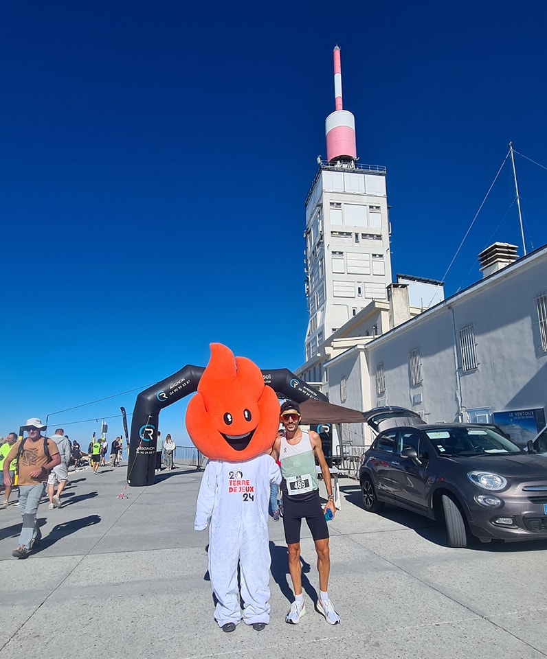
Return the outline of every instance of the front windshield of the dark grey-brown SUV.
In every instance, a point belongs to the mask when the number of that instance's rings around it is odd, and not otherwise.
[[[428,428],[425,434],[438,454],[444,456],[522,453],[510,439],[484,426],[442,426]]]

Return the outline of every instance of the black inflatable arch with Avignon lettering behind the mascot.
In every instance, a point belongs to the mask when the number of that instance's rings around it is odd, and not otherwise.
[[[177,373],[141,391],[135,402],[131,435],[127,483],[132,487],[153,485],[155,480],[156,444],[159,413],[172,403],[197,391],[205,369],[186,365]],[[304,400],[323,400],[327,397],[288,369],[261,371],[264,384],[271,386],[280,397],[301,403]]]

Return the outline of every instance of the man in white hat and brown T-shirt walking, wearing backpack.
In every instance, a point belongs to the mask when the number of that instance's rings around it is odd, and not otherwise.
[[[52,439],[43,437],[45,430],[40,419],[28,419],[21,428],[24,437],[12,446],[3,463],[3,482],[5,487],[12,484],[10,463],[17,459],[17,474],[19,485],[19,502],[23,526],[19,535],[19,546],[13,551],[15,558],[26,558],[30,550],[40,542],[40,530],[36,527],[36,511],[45,491],[45,483],[49,472],[60,464],[60,454]]]

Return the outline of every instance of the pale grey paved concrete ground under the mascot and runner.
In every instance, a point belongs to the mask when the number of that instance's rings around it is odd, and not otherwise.
[[[308,613],[284,623],[286,550],[282,522],[270,520],[271,623],[223,634],[212,618],[207,531],[192,530],[201,474],[179,468],[127,489],[124,468],[70,477],[62,509],[41,505],[43,548],[27,560],[11,556],[19,509],[0,510],[0,659],[547,657],[545,542],[450,549],[428,520],[366,513],[357,483],[343,479],[342,510],[329,522],[329,594],[342,624],[313,611],[307,529]]]

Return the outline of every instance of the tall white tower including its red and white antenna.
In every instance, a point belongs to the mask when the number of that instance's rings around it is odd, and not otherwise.
[[[335,111],[325,122],[327,159],[317,158],[306,198],[306,362],[370,301],[386,300],[391,282],[386,167],[357,164],[355,118],[342,105],[338,46],[333,55]]]

